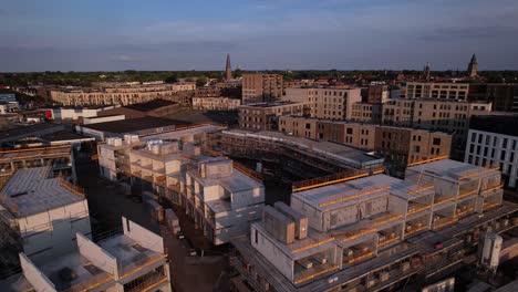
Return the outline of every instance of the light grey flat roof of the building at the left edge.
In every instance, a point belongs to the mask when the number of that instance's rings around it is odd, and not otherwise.
[[[60,178],[49,178],[50,167],[17,170],[1,190],[6,206],[17,217],[25,217],[84,201],[81,195],[63,187]]]

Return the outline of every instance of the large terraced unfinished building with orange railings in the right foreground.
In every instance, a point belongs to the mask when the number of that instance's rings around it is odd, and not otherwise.
[[[266,207],[249,240],[232,239],[230,262],[256,291],[380,291],[411,277],[433,283],[476,261],[480,231],[518,223],[499,176],[446,159],[411,166],[407,180],[374,175],[308,187],[291,206]]]

